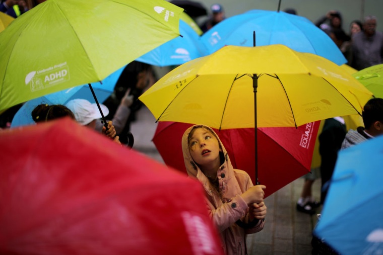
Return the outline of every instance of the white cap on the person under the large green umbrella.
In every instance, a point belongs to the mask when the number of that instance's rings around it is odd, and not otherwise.
[[[76,121],[81,125],[85,126],[91,123],[93,120],[101,118],[101,113],[98,110],[96,103],[91,103],[85,99],[73,99],[69,101],[66,105],[76,117]],[[101,111],[104,114],[104,117],[109,114],[109,110],[103,104],[100,104]]]

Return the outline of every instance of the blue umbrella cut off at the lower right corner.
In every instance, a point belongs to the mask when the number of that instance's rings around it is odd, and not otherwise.
[[[341,254],[383,252],[383,135],[339,152],[314,234]]]

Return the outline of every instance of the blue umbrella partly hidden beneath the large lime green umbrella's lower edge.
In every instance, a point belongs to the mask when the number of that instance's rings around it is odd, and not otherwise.
[[[112,94],[118,77],[124,68],[125,66],[110,74],[108,77],[101,81],[102,83],[91,83],[98,102],[104,102]],[[91,103],[95,103],[95,99],[90,91],[88,84],[48,94],[26,102],[15,114],[11,123],[11,128],[34,124],[31,113],[32,110],[39,104],[65,105],[68,101],[77,98],[86,99]]]

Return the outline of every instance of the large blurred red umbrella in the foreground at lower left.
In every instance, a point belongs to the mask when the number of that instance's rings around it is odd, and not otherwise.
[[[0,253],[221,254],[200,183],[70,119],[0,132]]]

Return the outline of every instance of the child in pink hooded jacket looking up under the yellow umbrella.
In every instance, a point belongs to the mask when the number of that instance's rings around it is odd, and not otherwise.
[[[233,168],[225,147],[208,126],[188,128],[182,136],[182,152],[187,174],[204,186],[225,254],[245,254],[245,235],[264,227],[266,187],[253,186],[246,172]]]

